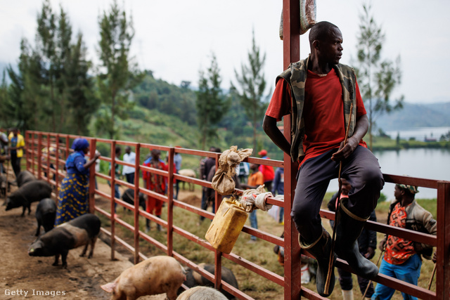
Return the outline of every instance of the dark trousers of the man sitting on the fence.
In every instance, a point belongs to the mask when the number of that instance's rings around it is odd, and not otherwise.
[[[333,162],[331,155],[338,149],[308,159],[297,174],[297,187],[293,210],[295,226],[306,244],[319,239],[322,234],[319,211],[330,180],[338,178],[339,162]],[[366,218],[375,209],[380,190],[385,181],[378,159],[370,150],[356,147],[352,155],[342,162],[341,177],[352,185],[347,209],[356,216]]]

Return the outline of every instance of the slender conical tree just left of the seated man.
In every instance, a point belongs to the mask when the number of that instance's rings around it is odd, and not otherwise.
[[[240,74],[238,71],[234,71],[240,89],[231,84],[231,91],[236,93],[240,104],[244,107],[245,114],[252,121],[253,149],[257,149],[257,126],[262,122],[267,107],[266,99],[264,99],[266,98],[264,97],[266,80],[263,71],[265,61],[266,54],[259,51],[259,46],[255,41],[255,32],[253,32],[252,49],[248,52],[248,65],[241,65]]]

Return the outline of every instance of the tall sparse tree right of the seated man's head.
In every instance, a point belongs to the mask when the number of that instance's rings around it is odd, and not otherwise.
[[[370,148],[376,119],[383,113],[392,112],[403,107],[403,96],[391,100],[392,91],[401,82],[400,58],[393,63],[381,61],[381,50],[385,42],[385,34],[381,26],[371,15],[371,5],[363,5],[364,13],[359,16],[359,35],[356,48],[358,50],[357,77],[359,87],[368,113]]]

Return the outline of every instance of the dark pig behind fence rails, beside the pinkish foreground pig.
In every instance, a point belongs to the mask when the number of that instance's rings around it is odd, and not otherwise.
[[[199,268],[203,268],[207,270],[208,272],[214,274],[215,266],[210,263],[200,263],[198,265]],[[238,286],[238,280],[236,280],[236,277],[234,276],[233,272],[229,268],[222,267],[222,273],[221,278],[224,280],[224,282],[228,283],[229,285],[232,285],[233,287],[236,287],[236,289],[239,289]],[[191,268],[188,268],[186,270],[186,281],[183,282],[186,287],[197,287],[199,285],[206,286],[206,287],[214,287],[214,284],[210,282],[210,280],[207,280],[199,273],[195,272]],[[178,294],[181,294],[184,289],[180,288],[178,290]],[[230,294],[229,292],[226,292],[224,289],[221,289],[220,292],[226,296],[227,299],[234,299],[234,296]]]

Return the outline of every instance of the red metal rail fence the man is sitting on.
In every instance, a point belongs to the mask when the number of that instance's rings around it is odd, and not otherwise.
[[[38,178],[44,178],[46,181],[49,181],[52,185],[55,186],[56,196],[58,195],[58,187],[60,185],[60,178],[65,176],[63,170],[63,165],[65,163],[65,158],[70,154],[70,145],[74,138],[79,136],[72,135],[64,135],[58,133],[46,133],[39,131],[27,131],[25,133],[25,140],[27,145],[27,169],[32,171]],[[100,159],[105,162],[110,162],[111,170],[115,169],[115,164],[121,164],[123,166],[134,167],[136,169],[136,180],[135,184],[132,185],[125,181],[122,181],[118,178],[115,178],[114,172],[111,172],[110,176],[105,174],[101,174],[98,172],[91,171],[90,173],[90,185],[89,185],[89,207],[91,212],[98,212],[99,214],[103,214],[110,219],[110,231],[102,228],[103,233],[110,236],[111,239],[111,259],[114,259],[115,253],[115,243],[122,244],[125,248],[127,248],[130,252],[134,254],[134,262],[139,262],[139,259],[146,259],[141,252],[139,252],[139,238],[154,244],[156,247],[161,249],[169,256],[173,256],[175,259],[179,260],[184,265],[197,270],[198,273],[202,274],[208,280],[214,282],[214,285],[217,289],[223,288],[227,292],[230,292],[234,296],[239,299],[252,299],[247,294],[241,292],[238,289],[235,289],[231,285],[227,284],[224,281],[221,281],[221,266],[222,266],[222,258],[229,259],[234,263],[237,263],[244,268],[248,268],[252,270],[257,275],[261,275],[264,278],[275,282],[281,287],[284,288],[284,299],[299,299],[300,296],[304,296],[307,299],[322,299],[321,296],[316,294],[315,292],[302,287],[300,283],[300,248],[298,247],[298,234],[295,230],[292,219],[290,219],[290,209],[292,205],[292,193],[285,193],[285,200],[290,201],[281,201],[274,198],[269,198],[269,204],[274,204],[280,207],[285,207],[285,235],[284,239],[281,237],[277,237],[275,235],[271,235],[270,233],[266,233],[262,230],[257,230],[254,228],[250,228],[248,226],[244,226],[243,232],[251,235],[255,235],[259,239],[266,240],[267,242],[271,242],[272,244],[278,244],[281,247],[285,248],[285,265],[284,265],[284,277],[278,275],[270,270],[266,270],[261,266],[258,266],[252,261],[245,259],[236,254],[224,254],[218,252],[216,249],[212,248],[210,243],[203,240],[203,238],[193,235],[193,233],[176,226],[176,220],[173,218],[173,209],[174,207],[179,207],[181,209],[185,209],[186,211],[191,211],[194,214],[198,214],[200,216],[205,216],[205,218],[213,219],[214,214],[195,207],[190,204],[186,204],[184,202],[174,200],[174,190],[173,185],[167,185],[167,195],[160,195],[158,193],[154,193],[146,188],[139,186],[139,172],[140,171],[148,171],[150,173],[158,174],[161,176],[165,176],[167,178],[167,182],[172,183],[174,179],[178,179],[180,181],[186,181],[188,183],[193,183],[195,185],[201,185],[204,187],[211,188],[211,183],[207,181],[203,181],[196,178],[181,176],[174,172],[174,155],[176,153],[181,153],[184,155],[195,155],[197,157],[215,157],[216,164],[219,161],[219,153],[215,152],[205,152],[199,150],[191,150],[184,148],[172,148],[161,145],[151,145],[145,143],[132,143],[126,141],[114,141],[107,140],[101,138],[89,138],[86,137],[90,143],[90,151],[89,156],[94,157],[94,152],[96,150],[97,143],[106,143],[110,145],[110,157],[101,156]],[[116,145],[129,145],[134,148],[136,152],[136,164],[127,164],[120,160],[115,159],[115,146]],[[141,164],[140,154],[141,150],[145,149],[158,149],[161,151],[167,151],[168,153],[168,171],[161,171],[158,169],[153,169],[150,167],[145,167]],[[285,167],[285,190],[292,190],[292,187],[295,185],[295,176],[289,176],[290,173],[293,173],[293,170],[290,170],[286,164],[281,161],[276,160],[268,160],[268,159],[260,159],[255,157],[248,157],[245,159],[247,162],[254,162],[256,164],[266,164],[273,167]],[[53,165],[53,168],[51,168]],[[46,176],[44,176],[44,173]],[[56,176],[53,177],[53,174]],[[95,188],[95,178],[104,178],[106,181],[110,182],[111,190],[110,193],[103,193],[101,190],[96,190]],[[54,178],[54,179],[53,179]],[[437,274],[436,274],[436,292],[430,292],[428,289],[424,289],[422,287],[416,287],[414,285],[410,285],[401,280],[397,280],[394,278],[390,278],[386,275],[379,274],[377,278],[375,278],[375,282],[380,282],[383,285],[388,287],[392,287],[394,289],[398,289],[402,292],[406,292],[413,296],[417,296],[420,299],[449,299],[448,295],[450,294],[450,182],[449,181],[436,181],[429,180],[423,178],[411,178],[405,176],[394,176],[384,174],[384,178],[386,182],[390,183],[404,183],[409,185],[418,185],[420,187],[425,188],[435,188],[437,189],[437,236],[427,235],[424,233],[418,233],[412,230],[406,230],[402,228],[394,228],[391,226],[384,225],[382,223],[371,222],[368,221],[366,227],[370,230],[376,230],[380,233],[388,233],[392,235],[397,235],[399,237],[404,237],[408,240],[413,240],[415,242],[422,242],[425,244],[431,244],[437,247]],[[120,199],[113,198],[111,195],[115,195],[114,186],[115,184],[122,185],[127,188],[131,188],[134,190],[134,199],[136,200],[135,205],[130,205],[126,202],[123,202]],[[143,193],[145,195],[150,195],[152,197],[157,198],[158,200],[162,200],[167,204],[167,221],[156,218],[152,214],[148,214],[146,211],[139,209],[139,193]],[[127,209],[131,209],[134,211],[134,226],[123,221],[114,214],[110,214],[108,211],[101,209],[96,206],[95,203],[95,195],[100,195],[105,199],[110,200],[110,211],[115,211],[115,204],[120,204],[122,207],[126,207]],[[216,207],[219,207],[221,202],[221,197],[216,193],[215,195],[215,204]],[[325,219],[334,219],[334,213],[326,210],[321,210],[321,216]],[[150,237],[143,231],[139,230],[139,219],[149,219],[158,223],[165,228],[167,228],[167,245],[158,242],[153,237]],[[134,234],[134,245],[128,244],[124,240],[117,237],[115,234],[115,226],[119,224],[127,230],[130,230]],[[215,263],[215,273],[211,274],[205,271],[203,268],[198,268],[198,265],[193,261],[186,259],[186,257],[181,256],[181,254],[177,253],[173,249],[173,235],[181,235],[182,237],[186,237],[186,239],[191,240],[199,244],[201,247],[210,250],[214,253],[214,263]],[[307,254],[305,252],[304,254]],[[308,255],[308,254],[307,254]],[[345,261],[338,259],[336,266],[342,268],[344,270],[349,270],[349,267]]]

